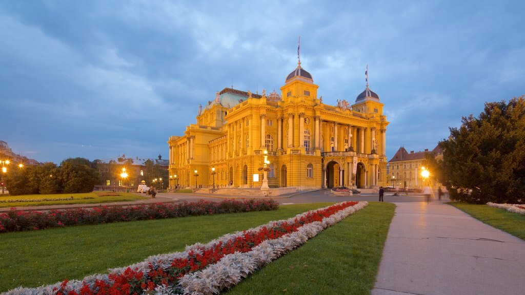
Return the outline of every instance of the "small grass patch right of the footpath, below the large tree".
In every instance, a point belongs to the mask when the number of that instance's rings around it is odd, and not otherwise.
[[[492,227],[525,240],[525,215],[508,212],[505,209],[493,208],[487,205],[475,205],[463,202],[448,203],[472,217]]]

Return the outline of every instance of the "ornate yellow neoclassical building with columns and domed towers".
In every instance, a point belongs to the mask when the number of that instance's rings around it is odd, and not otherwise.
[[[197,122],[167,142],[170,187],[261,187],[265,151],[270,189],[387,185],[379,96],[366,83],[355,103],[330,106],[318,88],[299,61],[281,94],[217,92],[199,105]]]

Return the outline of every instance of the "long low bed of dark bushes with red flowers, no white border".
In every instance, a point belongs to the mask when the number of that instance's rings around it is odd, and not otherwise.
[[[151,204],[140,206],[101,206],[64,210],[19,211],[16,208],[0,214],[0,233],[37,230],[71,225],[103,224],[134,220],[164,219],[197,215],[276,210],[279,204],[272,199],[222,202],[199,200],[188,203]]]

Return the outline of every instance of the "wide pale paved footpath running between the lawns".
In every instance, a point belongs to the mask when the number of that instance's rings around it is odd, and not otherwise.
[[[441,202],[396,206],[372,295],[525,293],[525,241]]]

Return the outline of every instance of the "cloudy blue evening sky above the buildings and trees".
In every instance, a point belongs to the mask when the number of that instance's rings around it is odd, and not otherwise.
[[[387,157],[433,149],[485,101],[525,94],[516,1],[0,1],[0,140],[40,162],[168,156],[225,87],[279,90],[297,66],[323,102],[370,88]]]

